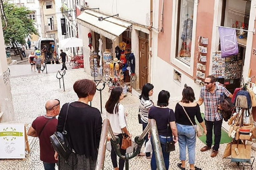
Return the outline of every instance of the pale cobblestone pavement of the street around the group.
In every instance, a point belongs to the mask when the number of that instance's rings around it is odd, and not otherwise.
[[[22,65],[21,65],[22,66]],[[48,99],[59,99],[61,105],[66,102],[77,100],[77,96],[72,89],[73,83],[78,79],[89,78],[90,75],[85,73],[83,69],[67,70],[65,75],[65,89],[59,88],[59,81],[56,78],[56,73],[49,74],[35,74],[22,77],[11,77],[12,96],[15,111],[15,121],[10,123],[28,123],[31,126],[33,120],[45,114],[44,105]],[[99,87],[100,88],[100,87]],[[108,87],[102,91],[102,105],[104,106],[108,99]],[[100,93],[97,91],[92,101],[92,106],[100,110]],[[171,108],[174,108],[177,101],[172,101]],[[137,112],[139,100],[137,97],[128,93],[128,95],[121,102],[125,107],[125,112],[128,115],[128,128],[133,136],[139,135],[142,132],[142,126],[138,124]],[[103,111],[105,112],[105,111]],[[104,114],[102,115],[104,118]],[[28,138],[30,145],[30,153],[26,153],[26,159],[2,159],[0,160],[1,170],[43,170],[43,164],[40,161],[39,155],[39,140],[38,138]],[[223,169],[222,154],[226,144],[221,144],[219,154],[215,158],[211,158],[211,151],[200,152],[200,148],[204,146],[203,142],[197,139],[196,144],[196,163],[197,167],[203,170],[220,170]],[[143,148],[144,149],[144,148]],[[142,149],[142,150],[143,150]],[[255,151],[252,154],[256,156]],[[179,147],[176,145],[176,150],[170,154],[170,168],[178,170],[177,163],[179,163]],[[106,151],[104,169],[112,170],[112,162],[110,152]],[[255,166],[254,166],[255,167]],[[56,166],[57,169],[57,166]],[[145,157],[135,157],[130,160],[130,169],[132,170],[149,170],[150,160]],[[186,169],[189,169],[189,164],[186,164]],[[227,168],[233,170],[237,168]]]

